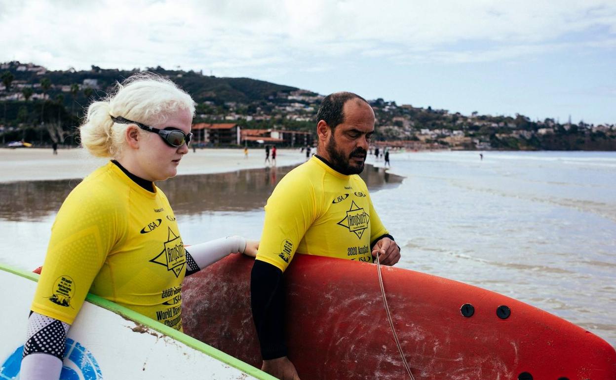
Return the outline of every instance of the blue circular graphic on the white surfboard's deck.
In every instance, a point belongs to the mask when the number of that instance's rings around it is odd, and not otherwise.
[[[103,380],[99,363],[94,355],[79,342],[67,338],[64,365],[60,380]],[[22,364],[23,346],[17,347],[15,352],[0,366],[0,379],[19,379],[19,368]]]

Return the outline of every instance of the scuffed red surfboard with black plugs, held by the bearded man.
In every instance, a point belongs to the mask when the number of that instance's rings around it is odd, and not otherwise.
[[[261,365],[250,309],[253,260],[231,255],[187,277],[185,333]],[[614,380],[610,344],[562,318],[457,281],[381,266],[415,379]],[[410,378],[375,264],[296,254],[285,272],[289,357],[302,380]]]

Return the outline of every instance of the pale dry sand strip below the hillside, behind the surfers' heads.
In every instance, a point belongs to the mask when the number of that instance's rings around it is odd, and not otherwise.
[[[194,153],[190,150],[182,158],[177,174],[264,168],[264,160],[262,148],[249,149],[248,158],[242,149],[206,148]],[[107,161],[94,158],[81,148],[59,149],[57,155],[53,155],[51,148],[0,148],[0,182],[83,178]],[[296,165],[306,161],[306,154],[299,149],[278,149],[276,161],[277,166]]]

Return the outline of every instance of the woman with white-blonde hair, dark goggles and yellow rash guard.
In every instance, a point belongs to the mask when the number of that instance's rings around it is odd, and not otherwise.
[[[88,292],[182,331],[181,309],[166,310],[181,307],[184,277],[230,253],[256,255],[258,242],[239,236],[184,248],[176,216],[155,185],[176,176],[194,112],[190,95],[150,73],[131,76],[89,105],[81,144],[111,161],[77,185],[55,217],[20,379],[59,379],[66,334]]]

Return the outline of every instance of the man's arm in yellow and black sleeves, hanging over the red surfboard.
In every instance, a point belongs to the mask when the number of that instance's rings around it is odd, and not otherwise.
[[[282,273],[318,214],[314,197],[305,171],[291,171],[278,183],[265,205],[263,233],[251,273],[251,302],[261,344],[262,370],[285,380],[296,380],[298,374],[286,358]]]

